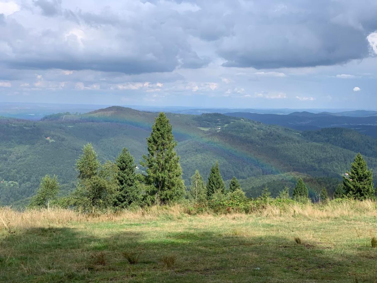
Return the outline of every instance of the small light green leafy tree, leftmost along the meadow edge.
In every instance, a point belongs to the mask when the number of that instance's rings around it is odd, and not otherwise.
[[[46,175],[41,179],[37,194],[31,198],[29,208],[50,208],[50,202],[57,199],[59,193],[57,176]]]

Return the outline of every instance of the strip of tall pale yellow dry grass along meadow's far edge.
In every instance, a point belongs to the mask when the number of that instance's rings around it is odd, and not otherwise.
[[[166,218],[169,220],[179,220],[184,217],[192,217],[185,213],[185,208],[175,206],[152,206],[122,212],[108,212],[98,215],[89,215],[76,212],[70,209],[35,209],[26,211],[15,211],[8,207],[0,208],[0,229],[27,229],[33,227],[43,227],[52,225],[62,225],[65,223],[86,223],[86,222],[118,222],[136,223],[144,221],[158,220]],[[272,219],[280,217],[304,217],[309,219],[326,220],[339,217],[377,217],[377,202],[372,200],[354,201],[330,201],[326,205],[319,204],[294,204],[286,206],[270,205],[264,209],[257,210],[251,214],[230,213],[214,215],[211,212],[204,212],[196,215],[204,222],[225,220],[233,223],[247,223],[251,218],[267,217]],[[246,228],[245,228],[246,229]],[[232,232],[234,235],[238,232]],[[240,234],[247,234],[245,231]],[[309,236],[309,235],[308,235]]]

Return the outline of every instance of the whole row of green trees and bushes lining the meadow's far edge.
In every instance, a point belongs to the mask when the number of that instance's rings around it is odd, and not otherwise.
[[[155,118],[152,132],[147,138],[148,154],[143,155],[140,165],[146,168],[144,174],[138,172],[135,159],[127,148],[123,148],[115,162],[103,164],[97,158],[93,146],[88,143],[76,162],[78,181],[75,191],[68,197],[58,197],[60,191],[57,176],[46,175],[41,179],[37,194],[32,197],[29,207],[49,208],[51,205],[74,207],[84,212],[107,209],[125,209],[132,206],[169,205],[189,200],[201,208],[238,208],[248,204],[236,177],[225,188],[219,163],[212,166],[205,183],[199,171],[190,178],[187,190],[182,178],[182,168],[175,147],[177,141],[172,134],[172,125],[161,112]],[[339,185],[335,198],[374,198],[372,171],[359,153],[351,165],[351,170],[343,175],[343,185]],[[266,187],[256,199],[265,203],[272,198]],[[329,199],[325,188],[319,194],[320,201]],[[302,178],[296,183],[292,198],[289,188],[282,190],[277,200],[309,201],[308,189]],[[255,203],[254,203],[255,205]],[[250,209],[250,207],[248,208]]]

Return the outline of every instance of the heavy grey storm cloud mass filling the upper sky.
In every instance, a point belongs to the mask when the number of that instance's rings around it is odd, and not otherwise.
[[[0,16],[8,68],[142,74],[217,58],[258,69],[336,65],[368,57],[366,37],[377,29],[372,0],[30,3],[40,14]]]

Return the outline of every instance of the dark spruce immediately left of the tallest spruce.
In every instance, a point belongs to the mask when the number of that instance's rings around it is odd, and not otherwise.
[[[127,148],[123,148],[121,154],[115,160],[118,166],[117,180],[119,187],[115,195],[114,206],[126,208],[132,203],[139,203],[141,192],[136,182],[135,159]]]

